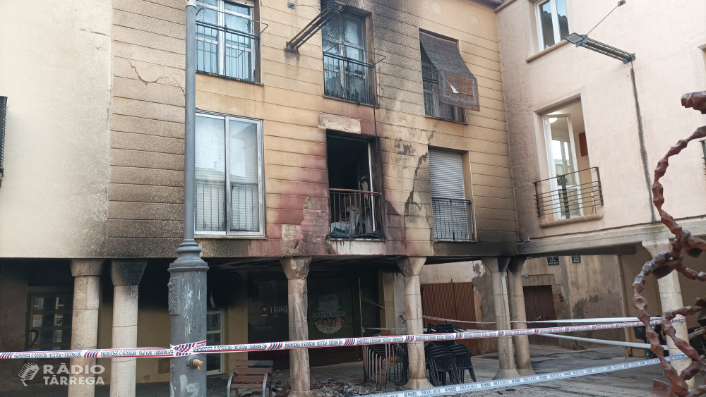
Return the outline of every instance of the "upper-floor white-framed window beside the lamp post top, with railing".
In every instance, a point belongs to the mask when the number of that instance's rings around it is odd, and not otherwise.
[[[259,37],[249,1],[198,1],[196,70],[258,82]]]

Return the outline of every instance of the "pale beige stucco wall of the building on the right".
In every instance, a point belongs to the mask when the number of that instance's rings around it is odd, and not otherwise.
[[[615,1],[567,2],[570,32],[586,33]],[[650,199],[640,159],[638,123],[630,64],[588,49],[563,45],[537,59],[534,5],[515,0],[498,11],[503,78],[508,111],[510,154],[520,238],[533,240],[566,233],[591,232],[652,221]],[[666,4],[648,0],[617,8],[590,35],[614,47],[635,52],[633,63],[640,98],[650,173],[666,150],[685,138],[706,117],[683,109],[680,97],[704,90],[706,4]],[[548,177],[539,114],[563,100],[580,97],[585,116],[590,166],[601,172],[604,217],[599,220],[540,228],[534,181]],[[702,152],[698,142],[671,161],[663,179],[666,209],[675,217],[706,214]],[[679,200],[678,204],[676,201]]]

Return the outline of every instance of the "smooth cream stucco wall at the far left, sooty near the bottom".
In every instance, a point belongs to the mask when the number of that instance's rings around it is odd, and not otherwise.
[[[102,257],[111,1],[0,2],[0,257]]]

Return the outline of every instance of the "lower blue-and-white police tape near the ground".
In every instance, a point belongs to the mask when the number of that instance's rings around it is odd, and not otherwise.
[[[664,358],[667,361],[683,360],[688,358],[685,354],[670,355]],[[468,393],[470,391],[482,391],[491,389],[501,389],[508,386],[524,386],[545,381],[558,381],[585,377],[587,375],[605,374],[606,372],[616,372],[623,369],[633,369],[647,367],[648,365],[659,364],[659,358],[651,360],[622,362],[621,364],[602,365],[601,367],[573,369],[570,371],[551,372],[550,374],[530,375],[528,377],[518,377],[509,379],[497,379],[493,381],[479,381],[467,384],[454,384],[450,386],[430,387],[427,389],[416,389],[407,391],[390,391],[388,393],[378,393],[375,397],[439,397],[451,396],[453,394]]]

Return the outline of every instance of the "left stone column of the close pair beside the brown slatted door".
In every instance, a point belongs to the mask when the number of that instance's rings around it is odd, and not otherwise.
[[[495,305],[496,329],[510,329],[510,305],[508,303],[508,281],[505,271],[510,264],[510,257],[484,257],[481,258],[485,267],[490,271],[493,283],[493,304]],[[498,338],[498,360],[500,369],[493,379],[519,377],[513,353],[513,339],[511,336]]]

